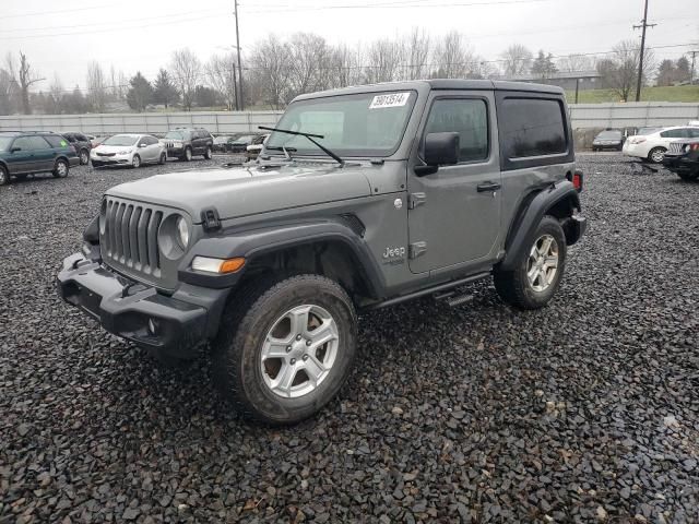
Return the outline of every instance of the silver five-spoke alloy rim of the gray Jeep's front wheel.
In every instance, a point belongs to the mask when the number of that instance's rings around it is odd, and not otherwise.
[[[340,335],[332,315],[304,305],[281,315],[262,343],[260,369],[276,395],[296,398],[316,390],[330,374]]]

